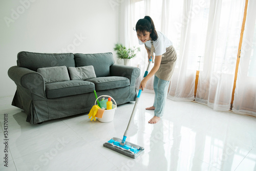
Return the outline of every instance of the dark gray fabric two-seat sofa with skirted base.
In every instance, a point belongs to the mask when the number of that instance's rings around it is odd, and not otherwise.
[[[67,70],[69,67],[93,66],[96,77],[72,80],[68,72],[69,79],[47,82],[46,76],[43,77],[38,70],[57,66],[66,66]],[[62,73],[53,73],[56,74],[58,78],[62,77]],[[18,53],[17,66],[11,67],[8,75],[17,86],[12,105],[23,109],[27,122],[35,124],[89,112],[95,102],[94,90],[98,97],[113,97],[117,105],[135,101],[135,82],[140,69],[115,65],[112,53],[50,54],[23,51]]]

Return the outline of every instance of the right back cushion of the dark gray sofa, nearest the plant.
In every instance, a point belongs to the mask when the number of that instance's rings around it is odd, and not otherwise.
[[[115,61],[113,54],[108,53],[96,53],[96,54],[75,54],[76,67],[93,66],[96,77],[110,76],[110,66]]]

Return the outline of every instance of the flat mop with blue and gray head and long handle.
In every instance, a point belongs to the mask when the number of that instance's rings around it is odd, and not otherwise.
[[[152,57],[151,57],[150,61],[148,62],[147,70],[145,71],[144,77],[146,77],[147,74],[148,74],[148,69],[150,68],[151,62],[152,62]],[[129,157],[134,158],[134,159],[137,158],[144,151],[144,148],[142,146],[133,144],[131,142],[127,142],[125,140],[127,138],[127,132],[129,130],[131,120],[133,119],[134,114],[136,112],[136,108],[137,108],[137,104],[139,102],[141,91],[142,90],[139,90],[139,93],[137,95],[132,115],[130,117],[127,128],[126,128],[126,130],[123,134],[123,139],[121,140],[120,138],[113,137],[111,140],[109,140],[108,142],[105,142],[103,144],[104,147],[110,148],[110,149],[112,149],[112,150],[114,150],[118,153],[121,153],[125,156],[129,156]]]

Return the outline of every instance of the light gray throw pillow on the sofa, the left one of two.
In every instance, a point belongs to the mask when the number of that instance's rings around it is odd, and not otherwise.
[[[70,80],[66,66],[38,68],[37,72],[42,75],[46,83]]]

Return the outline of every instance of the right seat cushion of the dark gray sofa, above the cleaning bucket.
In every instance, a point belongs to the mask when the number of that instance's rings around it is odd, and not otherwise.
[[[88,79],[87,81],[93,82],[95,84],[96,91],[110,90],[130,86],[130,80],[126,77],[97,77]]]

